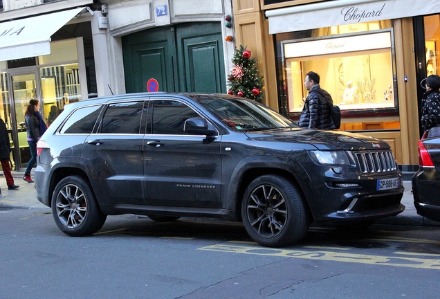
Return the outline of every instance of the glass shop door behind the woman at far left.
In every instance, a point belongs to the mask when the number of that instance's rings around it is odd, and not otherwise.
[[[37,100],[37,81],[35,73],[11,75],[10,78],[12,87],[11,122],[17,125],[17,130],[11,132],[13,143],[11,161],[13,169],[19,170],[21,167],[26,167],[30,160],[24,113],[29,101]]]

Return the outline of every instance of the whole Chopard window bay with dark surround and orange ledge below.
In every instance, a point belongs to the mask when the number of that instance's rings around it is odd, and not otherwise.
[[[309,71],[320,75],[342,111],[341,130],[400,129],[392,21],[331,26],[276,35],[280,111],[297,120]]]

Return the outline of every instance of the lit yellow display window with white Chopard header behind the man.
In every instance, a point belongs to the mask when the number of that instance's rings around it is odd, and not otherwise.
[[[396,109],[391,32],[284,44],[288,112],[301,112],[315,71],[341,110]]]

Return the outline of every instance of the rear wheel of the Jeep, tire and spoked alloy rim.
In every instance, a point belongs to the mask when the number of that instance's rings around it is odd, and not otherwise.
[[[67,176],[57,183],[52,195],[52,215],[59,230],[72,237],[96,233],[107,219],[91,186],[80,176]]]

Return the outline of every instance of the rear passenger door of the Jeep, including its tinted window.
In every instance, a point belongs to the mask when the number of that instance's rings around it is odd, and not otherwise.
[[[144,203],[143,108],[143,100],[109,105],[98,133],[84,142],[82,159],[104,186],[108,203]]]

